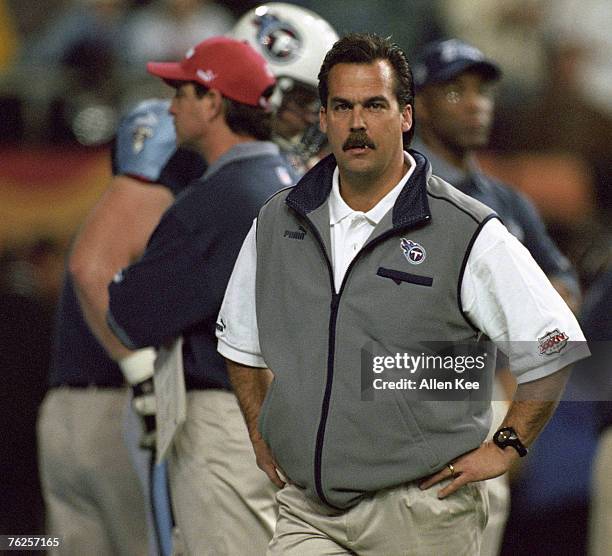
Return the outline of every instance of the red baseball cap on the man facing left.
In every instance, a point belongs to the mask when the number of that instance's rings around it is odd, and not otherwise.
[[[180,62],[149,62],[147,71],[167,81],[195,81],[250,106],[268,106],[276,80],[266,60],[246,42],[213,37],[190,48]]]

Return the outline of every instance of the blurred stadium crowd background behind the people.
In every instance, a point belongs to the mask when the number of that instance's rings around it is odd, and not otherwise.
[[[10,446],[0,451],[1,534],[44,530],[35,420],[54,304],[70,240],[110,178],[118,117],[140,99],[172,92],[147,75],[147,61],[181,58],[260,3],[0,0],[0,413]],[[409,58],[426,42],[455,36],[496,60],[504,78],[480,161],[531,197],[588,292],[609,264],[612,237],[612,2],[289,3],[318,12],[340,34],[392,36]],[[584,509],[588,500],[580,503]],[[521,504],[512,527],[531,519]],[[585,510],[566,528],[566,553],[584,549],[587,519]],[[511,535],[505,550],[518,554],[519,544]]]

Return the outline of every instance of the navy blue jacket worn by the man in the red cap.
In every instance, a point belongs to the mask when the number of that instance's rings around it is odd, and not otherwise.
[[[215,322],[253,219],[292,184],[290,172],[273,143],[235,146],[176,200],[142,259],[109,286],[108,322],[127,347],[183,336],[188,389],[231,389]]]

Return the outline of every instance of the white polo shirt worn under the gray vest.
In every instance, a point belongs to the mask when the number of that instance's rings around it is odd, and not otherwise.
[[[344,274],[378,222],[393,208],[414,171],[408,172],[368,212],[354,211],[342,199],[338,168],[329,196],[332,267],[336,291]],[[266,367],[261,356],[255,313],[256,222],[238,255],[217,322],[218,351],[232,361]],[[461,306],[470,321],[508,356],[519,383],[552,374],[587,357],[589,350],[576,318],[529,251],[497,219],[476,238],[461,283]],[[539,340],[558,330],[569,344],[559,353],[542,355]]]

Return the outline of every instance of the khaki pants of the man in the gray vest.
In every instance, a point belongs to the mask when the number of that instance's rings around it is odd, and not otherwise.
[[[346,511],[306,498],[288,485],[270,556],[474,556],[487,521],[486,488],[469,484],[444,500],[448,481],[422,491],[415,483],[387,489]]]

